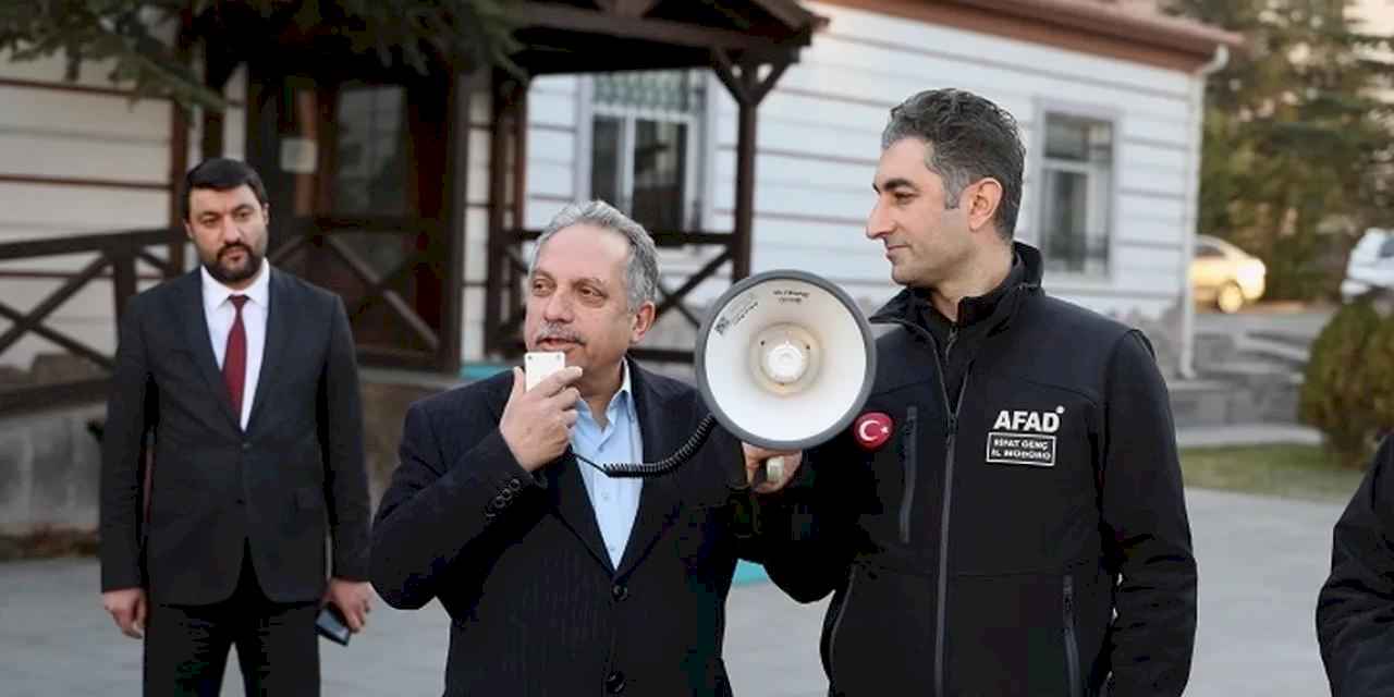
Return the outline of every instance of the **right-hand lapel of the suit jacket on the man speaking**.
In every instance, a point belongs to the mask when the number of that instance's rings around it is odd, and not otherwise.
[[[672,415],[664,414],[665,400],[648,385],[638,365],[630,361],[629,368],[634,407],[638,413],[638,432],[644,441],[644,461],[658,461],[672,454],[680,445],[679,441],[686,439],[689,434],[675,434],[672,428],[664,428],[672,422]],[[662,537],[677,513],[679,502],[677,471],[644,480],[644,488],[638,495],[638,514],[625,545],[625,556],[619,560],[618,576],[627,574]]]

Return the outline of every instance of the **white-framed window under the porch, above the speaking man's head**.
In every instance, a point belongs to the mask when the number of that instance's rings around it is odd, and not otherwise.
[[[655,231],[701,229],[705,89],[703,71],[594,75],[590,197]]]

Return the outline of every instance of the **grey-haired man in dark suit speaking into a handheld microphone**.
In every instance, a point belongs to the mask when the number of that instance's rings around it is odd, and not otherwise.
[[[657,283],[643,226],[598,201],[562,210],[534,252],[524,336],[567,367],[407,411],[372,581],[392,606],[439,598],[450,613],[447,696],[730,694],[725,601],[736,558],[761,558],[758,463],[717,429],[668,475],[587,464],[664,459],[707,414],[694,389],[626,358]]]

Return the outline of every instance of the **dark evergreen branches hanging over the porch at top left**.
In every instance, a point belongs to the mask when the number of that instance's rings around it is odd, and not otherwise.
[[[61,54],[67,78],[84,63],[112,61],[113,82],[138,96],[223,109],[174,45],[178,26],[205,28],[205,47],[236,20],[240,36],[343,38],[355,53],[425,71],[431,57],[502,64],[516,50],[507,0],[3,0],[0,54],[35,60]],[[192,40],[199,40],[194,32]],[[229,36],[236,43],[237,36]],[[227,50],[226,46],[217,50]]]

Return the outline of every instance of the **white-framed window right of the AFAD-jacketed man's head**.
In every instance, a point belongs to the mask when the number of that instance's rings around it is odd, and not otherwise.
[[[1039,241],[1046,270],[1108,273],[1114,206],[1114,123],[1046,112]]]

